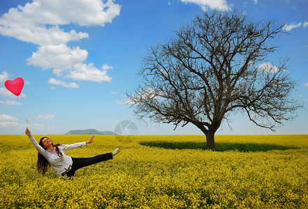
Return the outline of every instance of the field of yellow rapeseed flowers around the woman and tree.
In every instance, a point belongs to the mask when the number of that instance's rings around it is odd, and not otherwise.
[[[89,138],[48,137],[54,144]],[[26,135],[0,135],[0,208],[308,208],[307,135],[217,136],[214,151],[198,135],[94,139],[66,154],[121,152],[67,180],[36,172]]]

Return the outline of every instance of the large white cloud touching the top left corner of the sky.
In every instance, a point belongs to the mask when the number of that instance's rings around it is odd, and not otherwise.
[[[120,9],[111,0],[36,0],[3,14],[0,33],[37,45],[59,45],[89,37],[74,30],[65,32],[59,25],[104,26],[119,15]]]

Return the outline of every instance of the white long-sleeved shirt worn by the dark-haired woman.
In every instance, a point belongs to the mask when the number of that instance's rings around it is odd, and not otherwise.
[[[80,146],[85,146],[86,142],[79,142],[75,144],[61,144],[58,146],[59,152],[62,153],[62,157],[59,157],[56,150],[48,150],[42,148],[37,142],[34,137],[30,137],[30,140],[32,144],[36,147],[36,150],[38,150],[38,153],[41,153],[46,160],[50,163],[52,169],[54,170],[54,173],[61,174],[64,173],[70,167],[72,161],[72,157],[67,156],[64,154],[64,150],[71,150],[73,148],[78,148]]]

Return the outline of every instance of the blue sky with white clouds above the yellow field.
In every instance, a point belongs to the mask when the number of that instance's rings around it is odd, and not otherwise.
[[[186,125],[138,121],[124,105],[124,93],[138,84],[147,47],[173,36],[203,10],[235,10],[249,20],[286,23],[270,55],[289,57],[291,77],[299,80],[293,98],[308,98],[307,0],[3,0],[0,5],[0,134],[23,134],[29,120],[34,134],[69,130],[114,131],[132,121],[139,134],[203,134]],[[22,77],[17,98],[4,87]],[[291,123],[276,132],[257,127],[246,116],[231,118],[217,134],[308,134],[307,102]]]

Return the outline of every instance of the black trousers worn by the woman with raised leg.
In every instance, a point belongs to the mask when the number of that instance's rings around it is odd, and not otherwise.
[[[74,176],[75,171],[77,171],[78,169],[87,167],[91,164],[96,164],[98,162],[111,159],[113,159],[112,153],[105,153],[103,155],[96,155],[94,157],[82,157],[82,158],[72,157],[73,164],[71,170],[66,173],[62,173],[62,176],[68,176],[68,177]]]

